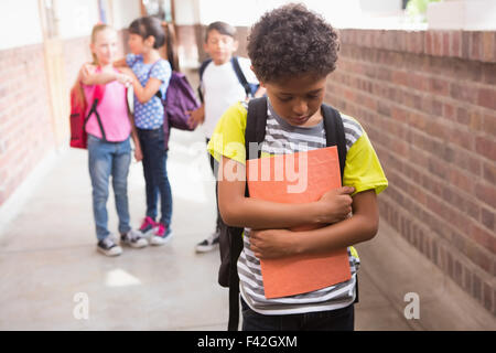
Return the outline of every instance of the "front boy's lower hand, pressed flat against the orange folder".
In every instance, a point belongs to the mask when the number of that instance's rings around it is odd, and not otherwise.
[[[288,229],[250,231],[250,248],[258,258],[278,258],[295,254],[294,236]]]

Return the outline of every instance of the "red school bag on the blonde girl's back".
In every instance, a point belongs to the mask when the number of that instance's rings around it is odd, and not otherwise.
[[[98,105],[101,103],[105,94],[105,85],[96,85],[93,92],[91,97],[91,108],[86,115],[87,103],[86,99],[78,99],[78,92],[76,89],[80,89],[80,87],[73,87],[71,89],[71,147],[73,148],[82,148],[87,149],[88,146],[88,135],[86,133],[86,124],[93,114],[95,114],[98,126],[101,131],[101,137],[104,141],[107,141],[107,137],[105,135],[104,125],[101,124],[100,115],[97,110]]]

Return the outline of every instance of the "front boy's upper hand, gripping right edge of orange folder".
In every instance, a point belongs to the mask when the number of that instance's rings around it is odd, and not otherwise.
[[[353,199],[351,194],[355,188],[343,186],[326,192],[317,201],[320,207],[319,223],[332,224],[345,220],[352,212]]]

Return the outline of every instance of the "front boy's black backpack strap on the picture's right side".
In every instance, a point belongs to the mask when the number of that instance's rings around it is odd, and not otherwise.
[[[346,137],[344,133],[343,119],[339,111],[325,104],[322,105],[324,116],[326,146],[337,146],[339,157],[341,180],[343,181],[344,168],[346,163]]]

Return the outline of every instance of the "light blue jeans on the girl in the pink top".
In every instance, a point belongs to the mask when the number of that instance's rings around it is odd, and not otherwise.
[[[108,182],[112,175],[116,208],[119,216],[119,233],[131,229],[129,225],[128,173],[131,163],[129,138],[122,142],[104,142],[88,135],[88,168],[93,185],[93,214],[98,240],[105,239],[108,231]]]

